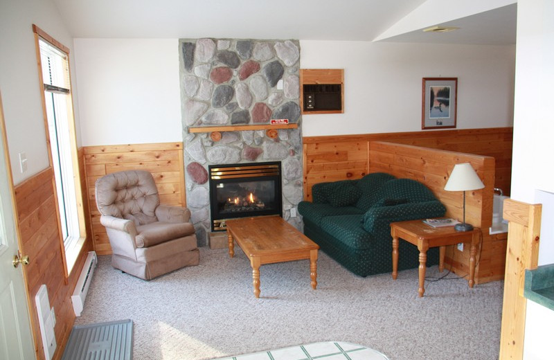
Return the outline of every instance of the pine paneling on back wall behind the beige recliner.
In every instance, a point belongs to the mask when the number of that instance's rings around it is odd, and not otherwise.
[[[87,228],[91,229],[99,255],[111,254],[111,246],[96,208],[96,179],[112,172],[146,170],[152,172],[161,204],[186,206],[183,143],[87,146],[82,152],[87,189],[83,193],[87,194],[90,224]]]

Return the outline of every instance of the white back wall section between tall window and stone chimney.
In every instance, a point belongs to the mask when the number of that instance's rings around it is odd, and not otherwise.
[[[178,39],[75,39],[82,145],[183,141]]]

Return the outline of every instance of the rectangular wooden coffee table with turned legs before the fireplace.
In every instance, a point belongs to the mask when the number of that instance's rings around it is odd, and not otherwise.
[[[312,242],[279,216],[244,217],[226,221],[229,256],[235,255],[234,242],[250,259],[254,296],[260,297],[260,266],[293,260],[310,259],[312,288],[317,286],[317,250]]]

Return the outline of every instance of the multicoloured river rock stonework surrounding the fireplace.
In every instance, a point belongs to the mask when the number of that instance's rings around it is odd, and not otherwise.
[[[199,246],[211,231],[208,165],[281,161],[283,218],[301,229],[300,219],[290,217],[303,199],[299,69],[298,40],[179,40],[186,197]],[[274,118],[298,129],[279,129],[277,137],[265,129],[224,132]],[[221,136],[188,132],[203,126],[220,127]]]

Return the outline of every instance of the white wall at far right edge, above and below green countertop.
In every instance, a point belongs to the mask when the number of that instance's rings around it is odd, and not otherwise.
[[[542,204],[539,265],[554,263],[554,2],[519,0],[512,198]],[[554,312],[527,302],[524,359],[552,359]]]

